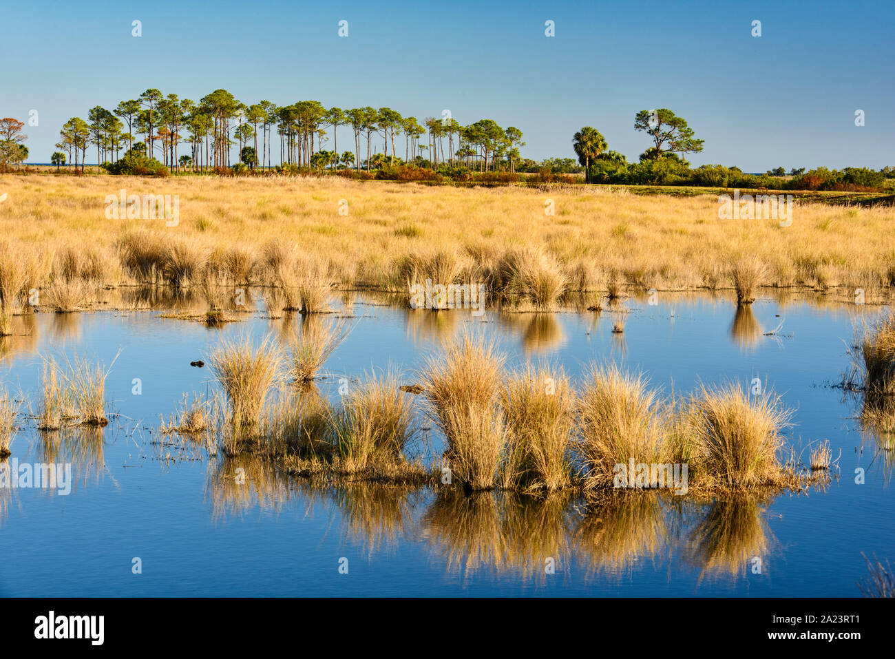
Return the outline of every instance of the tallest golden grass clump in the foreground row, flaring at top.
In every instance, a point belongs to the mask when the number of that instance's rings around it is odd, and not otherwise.
[[[422,369],[423,396],[447,440],[452,477],[476,490],[494,486],[507,439],[499,407],[503,363],[493,343],[466,333]]]

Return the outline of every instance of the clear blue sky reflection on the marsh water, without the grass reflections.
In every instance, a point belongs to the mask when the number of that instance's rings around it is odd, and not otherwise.
[[[892,490],[882,488],[880,472],[874,467],[865,485],[854,484],[855,467],[868,466],[873,451],[865,447],[863,455],[856,454],[860,437],[848,418],[853,408],[841,402],[840,391],[823,387],[848,366],[840,340],[852,336],[847,310],[820,311],[792,303],[781,311],[777,304],[760,301],[754,304],[755,322],[768,331],[783,320],[781,336],[759,336],[744,344],[732,336],[735,312],[729,301],[677,301],[673,319],[672,305],[665,304],[666,298],[660,302],[649,306],[627,301],[631,312],[623,351],[611,334],[616,320],[611,312],[555,314],[558,328],[541,323],[549,338],[541,352],[526,350],[531,317],[489,312],[481,327],[495,334],[511,365],[526,354],[533,359],[542,355],[563,364],[573,378],[591,360],[616,360],[642,369],[666,393],[672,387],[681,393],[700,381],[726,379],[745,387],[760,377],[788,406],[797,408],[797,438],[805,443],[829,439],[834,458],[841,449],[841,480],[825,494],[784,495],[772,503],[766,520],[771,552],[761,575],[747,571],[738,578],[704,578],[699,583],[698,567],[679,552],[671,552],[670,559],[668,552],[660,552],[654,560],[637,561],[630,573],[590,578],[585,585],[586,567],[573,558],[555,578],[538,580],[543,589],[538,592],[857,595],[855,583],[866,573],[860,553],[888,556],[895,545],[895,526]],[[441,312],[458,316],[421,329],[424,321],[419,316],[429,313],[358,302],[354,330],[325,370],[360,376],[392,365],[402,368],[404,381],[411,382],[413,367],[437,345],[439,331],[482,322],[468,312]],[[411,320],[408,314],[416,315]],[[293,492],[276,512],[250,507],[242,516],[215,520],[206,492],[206,460],[162,465],[146,458],[154,454],[150,447],[125,437],[118,426],[139,420],[158,424],[158,415],[174,411],[183,392],[207,387],[209,369],[189,363],[208,361],[219,335],[251,331],[260,337],[277,321],[255,319],[209,330],[191,321],[158,319],[156,312],[72,318],[78,326],[64,333],[67,350],[106,364],[121,350],[107,380],[107,395],[123,416],[107,428],[105,475],[82,480],[68,497],[18,491],[7,501],[0,521],[0,552],[5,557],[0,595],[494,595],[522,594],[534,587],[533,581],[512,571],[483,568],[473,577],[446,572],[440,554],[421,542],[424,534],[414,526],[433,502],[428,492],[410,509],[410,530],[384,552],[369,552],[362,539],[339,533],[342,509],[328,496],[309,499],[306,488]],[[2,377],[8,388],[21,387],[33,396],[40,364],[33,350],[47,355],[57,349],[54,320],[50,314],[38,314],[32,351],[4,358]],[[141,396],[131,395],[134,378],[141,379]],[[335,379],[320,382],[330,395],[335,387]],[[143,437],[149,439],[147,431]],[[35,459],[32,441],[26,432],[14,441],[13,455]],[[131,573],[134,556],[142,559],[140,576]],[[342,556],[350,561],[347,577],[337,573]]]

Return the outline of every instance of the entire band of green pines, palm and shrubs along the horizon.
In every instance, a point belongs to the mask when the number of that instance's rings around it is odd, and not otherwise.
[[[21,164],[28,157],[22,143],[24,123],[0,119],[0,169]],[[337,129],[350,129],[353,150],[338,151]],[[667,108],[642,110],[635,115],[635,131],[646,133],[651,144],[639,161],[609,150],[606,139],[592,126],[575,133],[573,158],[521,158],[522,131],[506,129],[491,119],[459,124],[453,117],[404,117],[389,107],[326,108],[318,101],[277,106],[267,100],[251,106],[226,90],[215,90],[198,102],[146,90],[114,110],[92,107],[88,121],[72,117],[60,131],[50,161],[84,168],[88,150],[113,174],[166,174],[169,169],[239,172],[254,167],[279,171],[354,168],[356,175],[398,180],[481,180],[512,183],[519,173],[537,173],[539,180],[584,171],[585,181],[604,184],[688,184],[710,187],[790,188],[803,190],[871,190],[887,187],[895,168],[865,167],[805,171],[783,167],[765,174],[746,174],[738,167],[703,165],[692,168],[683,154],[703,150],[686,120]],[[276,133],[277,137],[274,136]],[[343,131],[343,134],[345,132]],[[324,148],[332,141],[332,150]],[[404,138],[401,157],[400,139]],[[141,139],[140,139],[141,138]],[[278,139],[277,139],[278,138]],[[381,139],[381,142],[379,140]],[[231,162],[236,147],[238,161]],[[189,153],[183,153],[188,150]],[[406,166],[413,167],[406,167]],[[430,175],[425,171],[430,170]],[[574,179],[570,179],[574,180]]]

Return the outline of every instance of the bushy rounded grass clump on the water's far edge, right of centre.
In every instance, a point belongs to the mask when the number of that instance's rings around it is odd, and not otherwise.
[[[566,292],[569,280],[559,264],[542,249],[510,249],[492,272],[493,286],[511,306],[528,305],[552,311]]]

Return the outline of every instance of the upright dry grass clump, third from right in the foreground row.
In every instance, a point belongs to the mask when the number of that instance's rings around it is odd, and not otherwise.
[[[507,378],[500,403],[507,419],[505,484],[549,491],[570,484],[575,399],[565,373],[529,365]]]

